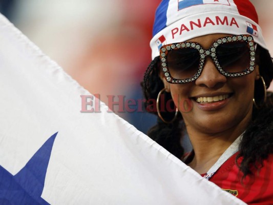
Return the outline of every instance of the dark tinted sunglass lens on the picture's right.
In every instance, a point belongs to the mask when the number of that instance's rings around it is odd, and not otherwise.
[[[250,54],[246,42],[221,44],[216,49],[216,56],[220,66],[226,72],[237,73],[249,67]]]

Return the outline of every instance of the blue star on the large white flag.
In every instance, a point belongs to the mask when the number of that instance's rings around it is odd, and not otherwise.
[[[41,193],[56,136],[52,135],[16,175],[0,166],[0,204],[49,204]]]

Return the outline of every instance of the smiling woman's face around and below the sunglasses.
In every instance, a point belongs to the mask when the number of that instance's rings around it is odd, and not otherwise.
[[[208,49],[215,39],[224,36],[227,34],[211,34],[188,41],[197,42]],[[254,84],[259,78],[258,75],[259,68],[256,66],[255,70],[248,75],[225,77],[216,69],[212,58],[206,57],[201,75],[191,83],[169,84],[163,74],[161,79],[164,81],[165,88],[167,87],[167,90],[171,92],[187,130],[213,134],[232,130],[238,126],[241,126],[242,130],[246,128],[251,119]],[[199,101],[204,101],[204,98],[214,101],[200,103]],[[184,112],[184,108],[178,106],[178,101],[185,99],[190,99],[192,102],[192,109],[188,112]]]

